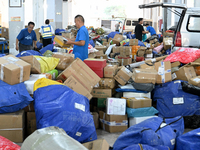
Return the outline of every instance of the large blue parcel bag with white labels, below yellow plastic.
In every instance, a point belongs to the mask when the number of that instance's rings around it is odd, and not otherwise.
[[[34,99],[38,129],[57,126],[81,143],[97,139],[89,100],[85,96],[65,85],[49,85],[38,88]]]

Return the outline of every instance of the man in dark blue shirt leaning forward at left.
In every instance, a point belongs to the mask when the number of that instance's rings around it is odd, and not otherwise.
[[[28,28],[22,29],[21,32],[18,34],[16,39],[17,51],[19,50],[19,52],[22,52],[25,50],[32,50],[33,43],[34,47],[37,48],[36,46],[37,37],[35,31],[33,30],[34,26],[35,26],[34,22],[29,22]]]

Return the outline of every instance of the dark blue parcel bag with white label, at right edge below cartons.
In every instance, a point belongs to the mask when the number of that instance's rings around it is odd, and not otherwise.
[[[182,90],[181,80],[157,85],[153,99],[157,101],[159,116],[176,117],[199,114],[200,97]]]

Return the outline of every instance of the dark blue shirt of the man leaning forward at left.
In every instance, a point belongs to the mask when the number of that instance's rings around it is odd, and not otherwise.
[[[35,31],[32,30],[31,33],[29,33],[28,28],[21,30],[21,32],[17,36],[17,39],[23,45],[32,45],[33,40],[37,41]]]

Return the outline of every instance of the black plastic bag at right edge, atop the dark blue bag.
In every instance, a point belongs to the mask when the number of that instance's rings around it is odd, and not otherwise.
[[[200,87],[191,85],[187,82],[181,82],[181,85],[184,92],[200,96]]]

